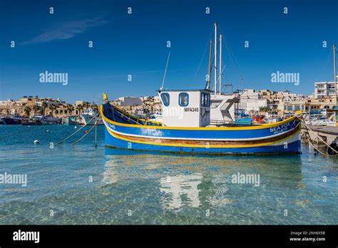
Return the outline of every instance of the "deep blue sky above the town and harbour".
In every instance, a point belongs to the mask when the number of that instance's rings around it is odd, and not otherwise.
[[[54,14],[49,14],[51,6]],[[206,7],[210,14],[205,14]],[[284,7],[288,14],[283,14]],[[222,47],[223,83],[232,83],[234,90],[310,94],[314,81],[333,80],[337,10],[336,0],[4,0],[0,2],[0,99],[39,95],[73,103],[101,100],[103,92],[111,99],[155,95],[169,49],[165,88],[204,88],[214,21],[228,44]],[[93,48],[88,48],[88,41],[93,41]],[[68,85],[40,83],[44,71],[68,73]],[[271,83],[276,71],[300,73],[299,86]]]

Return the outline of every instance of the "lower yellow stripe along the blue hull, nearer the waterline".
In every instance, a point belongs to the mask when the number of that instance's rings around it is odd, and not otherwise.
[[[259,146],[267,146],[267,145],[272,145],[275,143],[279,143],[283,140],[287,140],[289,138],[293,138],[295,137],[295,135],[298,135],[300,132],[300,128],[297,127],[299,130],[297,130],[296,133],[294,133],[293,135],[283,138],[281,140],[276,140],[274,142],[269,142],[269,143],[260,143],[260,144],[255,144],[255,145],[208,145],[209,148],[255,148],[255,147],[259,147]],[[205,148],[205,145],[184,145],[184,144],[164,144],[164,143],[155,143],[155,142],[145,142],[145,141],[135,141],[135,140],[130,140],[128,138],[121,138],[118,135],[116,135],[115,133],[113,133],[111,130],[109,130],[109,128],[106,128],[108,130],[108,132],[113,135],[114,138],[118,138],[120,140],[125,140],[128,142],[132,142],[132,143],[140,143],[140,144],[145,144],[145,145],[163,145],[163,146],[175,146],[175,147],[183,147],[183,148]],[[295,142],[295,141],[294,141]]]

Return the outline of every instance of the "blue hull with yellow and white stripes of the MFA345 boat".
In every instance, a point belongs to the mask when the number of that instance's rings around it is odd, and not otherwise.
[[[101,106],[106,146],[130,150],[198,154],[300,153],[300,120],[230,127],[165,127],[124,113],[110,103]]]

